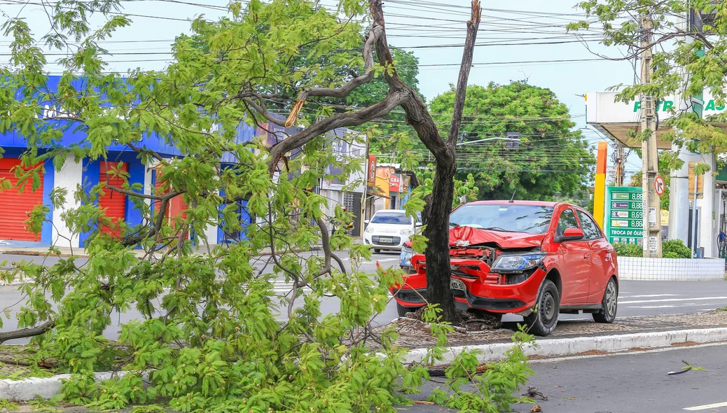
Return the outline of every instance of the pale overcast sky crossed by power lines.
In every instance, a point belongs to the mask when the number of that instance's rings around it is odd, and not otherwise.
[[[41,1],[0,0],[0,9],[8,16],[25,17],[36,36],[41,36],[49,30]],[[324,0],[323,4],[333,4],[333,1]],[[505,84],[527,79],[530,84],[553,90],[568,105],[578,127],[586,127],[585,102],[578,95],[601,92],[615,84],[629,84],[633,81],[633,68],[624,61],[595,60],[598,57],[585,44],[602,54],[620,56],[619,50],[604,49],[598,44],[601,39],[598,30],[585,33],[582,39],[566,33],[567,23],[584,18],[574,9],[576,2],[483,1],[470,84],[484,85],[491,81]],[[122,0],[121,3],[124,12],[132,15],[133,23],[119,31],[105,47],[117,53],[108,59],[113,62],[111,69],[123,72],[137,66],[164,68],[174,36],[190,32],[188,19],[200,14],[210,20],[221,17],[225,15],[227,1]],[[419,87],[427,100],[456,83],[457,64],[462,58],[459,45],[464,42],[470,1],[386,0],[384,10],[389,43],[413,50],[419,57]],[[0,63],[7,63],[8,40],[0,38]],[[49,71],[54,69],[57,71],[57,66],[49,65]],[[595,132],[586,132],[586,135],[590,143],[599,140]],[[627,170],[639,168],[638,159],[628,161]]]

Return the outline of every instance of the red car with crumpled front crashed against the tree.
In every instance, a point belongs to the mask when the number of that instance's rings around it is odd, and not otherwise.
[[[530,331],[548,335],[559,313],[616,318],[619,278],[614,247],[593,217],[571,204],[475,201],[449,217],[451,291],[460,310],[525,318]],[[402,252],[404,254],[405,252]],[[423,254],[391,292],[403,316],[427,296]]]

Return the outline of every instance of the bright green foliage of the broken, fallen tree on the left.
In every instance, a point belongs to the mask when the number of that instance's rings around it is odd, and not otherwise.
[[[236,140],[241,123],[260,124],[255,105],[276,100],[263,95],[280,88],[337,87],[349,76],[343,68],[361,70],[361,57],[350,50],[363,43],[365,2],[342,0],[337,12],[307,0],[233,2],[233,17],[193,22],[193,36],[175,41],[174,60],[165,71],[123,77],[106,71],[108,54],[97,44],[129,24],[111,14],[119,2],[64,4],[70,10],[49,16],[57,31],[41,39],[22,18],[4,23],[13,65],[0,68],[0,113],[9,113],[0,120],[0,133],[17,133],[28,143],[25,168],[16,172],[20,182],[37,189],[42,170],[30,166],[47,161],[56,169],[68,159],[113,161],[112,144],[137,153],[163,177],[161,188],[144,198],[128,174],[112,172],[142,217],[139,225],[121,222],[119,238],[98,230],[111,224],[98,201],[115,190],[98,183],[88,191],[53,191],[55,201],[77,202],[54,224],[62,223],[73,236],[90,233],[88,261],[79,265],[75,257],[60,257],[54,263],[22,262],[12,270],[11,276],[22,273],[31,280],[20,287],[25,300],[18,325],[55,322],[36,337],[33,361],[52,359],[70,374],[61,387],[64,401],[94,409],[163,401],[182,412],[393,412],[401,393],[418,391],[427,378],[425,366],[410,369],[401,362],[406,350],[394,344],[395,332],[371,339],[371,322],[385,310],[388,287],[401,281],[401,271],[364,273],[360,263],[371,252],[354,246],[342,230],[331,236],[330,254],[295,252],[318,246],[329,233],[325,199],[310,188],[331,176],[329,166],[341,169],[338,177],[345,181],[361,165],[339,159],[327,138],[316,135],[286,159],[288,169],[278,176],[271,174],[278,160],[270,159],[265,142]],[[87,20],[92,12],[99,27]],[[46,55],[38,41],[74,50],[57,62],[63,71],[57,91],[44,88]],[[47,101],[70,117],[58,124],[39,116],[39,103]],[[335,109],[325,101],[316,104],[316,117]],[[310,119],[302,116],[300,123]],[[65,130],[87,138],[60,145]],[[166,159],[137,147],[145,135],[158,135],[185,156]],[[44,147],[50,149],[39,150]],[[221,167],[223,154],[235,161]],[[473,178],[465,182],[467,193],[476,192]],[[180,217],[165,217],[159,206],[177,192],[188,207]],[[242,202],[255,218],[246,227],[238,212]],[[413,196],[407,211],[422,207],[422,198]],[[39,228],[47,208],[33,210],[31,228]],[[350,216],[338,211],[335,220],[349,222]],[[244,231],[246,237],[196,249],[195,243],[211,241],[199,235],[209,226],[228,234]],[[417,238],[415,244],[425,242]],[[269,249],[267,265],[251,263]],[[336,265],[333,254],[342,249],[350,249],[350,270]],[[280,280],[294,286],[276,294]],[[324,314],[323,297],[336,297],[340,310]],[[140,318],[121,324],[117,342],[105,339],[112,317],[129,310]],[[438,334],[430,358],[435,361],[451,326],[432,324],[432,331]],[[502,369],[509,366],[519,382],[521,359],[508,357]],[[124,374],[95,382],[96,372],[109,370]],[[507,393],[512,385],[497,382],[499,377],[487,379],[494,380],[490,391],[497,397],[487,396],[479,406],[512,400]],[[480,391],[487,380],[478,379]]]

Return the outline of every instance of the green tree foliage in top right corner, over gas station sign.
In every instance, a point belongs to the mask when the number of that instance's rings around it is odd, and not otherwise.
[[[616,52],[628,50],[627,58],[638,57],[640,52],[640,18],[651,17],[651,32],[654,35],[654,57],[651,65],[651,84],[614,86],[619,90],[616,99],[632,103],[646,93],[654,101],[675,95],[677,100],[691,102],[692,97],[702,99],[709,91],[712,100],[705,102],[704,111],[721,110],[727,99],[727,68],[723,64],[727,47],[727,5],[723,1],[711,0],[588,0],[577,4],[585,12],[584,20],[569,25],[571,31],[603,31],[601,43],[614,47]],[[674,16],[686,16],[690,9],[699,10],[701,15],[714,15],[715,19],[704,23],[704,32],[684,36],[683,20]],[[666,135],[680,148],[699,153],[722,153],[727,150],[727,135],[713,122],[727,119],[726,113],[700,116],[702,108],[694,105],[688,111],[671,108],[672,118],[663,122],[671,127]],[[695,113],[696,112],[696,113]],[[702,169],[707,167],[702,167]],[[708,169],[708,168],[707,168]],[[707,172],[703,170],[702,172]]]

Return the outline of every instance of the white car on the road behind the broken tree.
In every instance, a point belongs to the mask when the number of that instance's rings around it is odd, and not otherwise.
[[[407,217],[403,209],[381,209],[364,224],[364,244],[370,245],[374,252],[401,249],[414,230],[422,225],[419,220]]]

